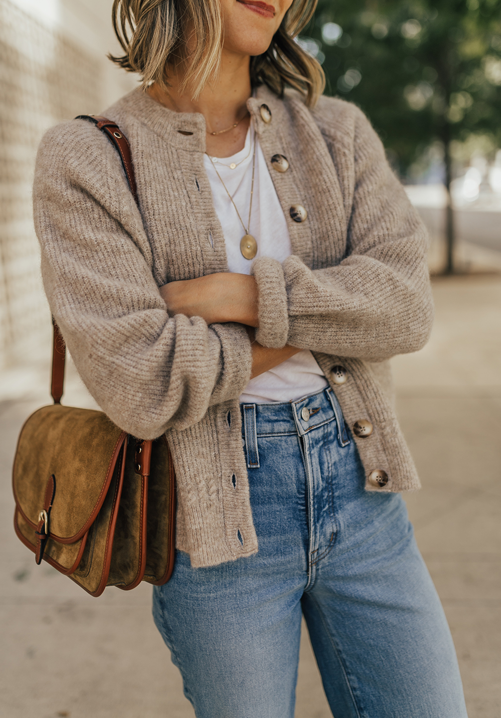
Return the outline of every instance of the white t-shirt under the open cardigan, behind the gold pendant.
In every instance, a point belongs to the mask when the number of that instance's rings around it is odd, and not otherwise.
[[[239,274],[250,274],[252,259],[245,259],[240,252],[240,240],[245,231],[238,219],[233,203],[217,177],[223,179],[233,202],[240,213],[245,228],[251,202],[252,164],[255,134],[251,126],[245,138],[243,150],[232,157],[204,157],[212,198],[223,228],[228,269]],[[234,169],[230,164],[236,164]],[[256,137],[256,168],[249,233],[258,243],[256,257],[273,257],[283,262],[291,254],[291,240],[286,218],[271,181],[263,151]],[[320,391],[327,386],[327,379],[309,350],[303,350],[273,369],[251,379],[240,396],[240,402],[263,404],[273,401],[294,401],[306,394]]]

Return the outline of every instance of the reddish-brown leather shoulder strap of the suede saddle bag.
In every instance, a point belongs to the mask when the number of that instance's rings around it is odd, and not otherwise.
[[[118,150],[121,157],[123,169],[125,170],[128,185],[131,188],[132,196],[136,205],[139,207],[139,198],[137,196],[136,177],[134,175],[134,165],[132,164],[131,146],[128,139],[118,127],[116,122],[108,120],[106,117],[99,115],[79,115],[75,120],[88,120],[95,124],[104,134],[108,136],[111,142]],[[54,325],[54,345],[52,348],[52,387],[51,394],[54,404],[61,403],[63,387],[65,383],[65,358],[66,348],[65,340],[62,338],[60,328],[57,326],[54,317],[52,317]]]

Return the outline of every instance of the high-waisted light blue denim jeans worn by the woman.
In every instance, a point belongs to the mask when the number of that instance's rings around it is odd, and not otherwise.
[[[294,716],[301,613],[335,718],[465,718],[405,503],[364,490],[332,390],[242,414],[258,553],[192,569],[179,551],[154,588],[197,718]]]

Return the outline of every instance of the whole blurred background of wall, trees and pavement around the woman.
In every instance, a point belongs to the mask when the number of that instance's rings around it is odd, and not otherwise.
[[[137,78],[106,59],[112,0],[0,0],[0,716],[192,717],[150,590],[95,600],[11,528],[22,422],[49,401],[52,327],[32,224],[44,131]],[[423,490],[406,497],[454,636],[470,718],[501,716],[501,1],[319,0],[298,42],[357,103],[429,228],[436,322],[397,357]],[[71,362],[63,402],[94,406]],[[384,664],[382,666],[384,677]],[[296,718],[328,718],[309,641]],[[407,717],[403,717],[407,718]]]

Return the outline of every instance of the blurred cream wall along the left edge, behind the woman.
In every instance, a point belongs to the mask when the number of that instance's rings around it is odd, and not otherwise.
[[[103,111],[133,86],[106,60],[116,49],[107,42],[111,0],[58,1],[43,17],[29,0],[0,0],[0,369],[45,363],[50,353],[32,223],[40,138],[59,121]]]

